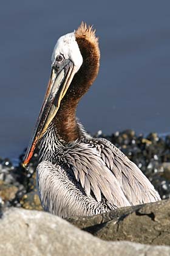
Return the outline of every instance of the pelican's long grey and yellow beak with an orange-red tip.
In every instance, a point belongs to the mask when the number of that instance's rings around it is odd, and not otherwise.
[[[64,60],[57,66],[52,66],[51,76],[44,102],[42,104],[35,128],[33,129],[29,147],[27,148],[27,152],[25,153],[24,161],[22,163],[24,168],[29,165],[33,152],[35,151],[36,144],[42,138],[44,132],[47,130],[47,127],[58,112],[60,102],[66,94],[74,74],[75,68],[72,61],[69,59]]]

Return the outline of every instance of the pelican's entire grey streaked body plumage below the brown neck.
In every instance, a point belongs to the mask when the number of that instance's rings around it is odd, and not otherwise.
[[[39,143],[37,184],[44,210],[66,218],[160,200],[151,182],[114,144],[92,138],[66,144],[51,125]]]

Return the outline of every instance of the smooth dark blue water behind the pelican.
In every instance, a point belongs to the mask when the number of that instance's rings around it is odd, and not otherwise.
[[[0,155],[27,146],[58,37],[94,24],[101,68],[77,115],[87,130],[170,131],[169,1],[1,1]]]

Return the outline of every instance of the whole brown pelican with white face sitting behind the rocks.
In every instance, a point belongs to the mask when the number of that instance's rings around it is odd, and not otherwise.
[[[92,27],[82,23],[58,39],[46,96],[24,158],[27,166],[38,145],[42,207],[63,218],[160,200],[134,163],[114,144],[87,134],[76,118],[78,102],[97,77],[99,63]]]

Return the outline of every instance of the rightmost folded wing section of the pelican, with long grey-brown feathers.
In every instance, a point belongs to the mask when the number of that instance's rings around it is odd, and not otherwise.
[[[114,174],[119,187],[131,205],[160,200],[159,194],[143,172],[114,144],[103,138],[95,139],[94,142],[101,159]],[[116,190],[115,193],[117,193]]]

